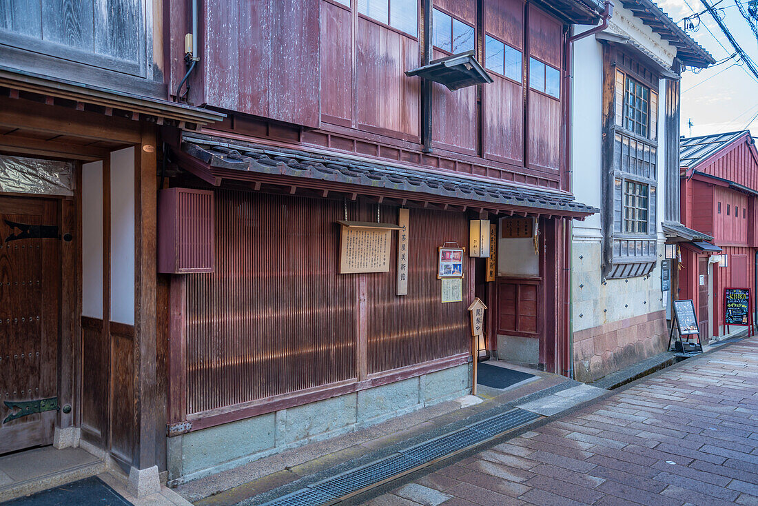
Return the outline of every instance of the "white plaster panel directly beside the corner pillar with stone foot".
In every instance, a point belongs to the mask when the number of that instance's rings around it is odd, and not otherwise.
[[[111,321],[134,325],[134,148],[111,153]]]

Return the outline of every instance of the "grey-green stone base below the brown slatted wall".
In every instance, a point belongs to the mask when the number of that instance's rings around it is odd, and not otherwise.
[[[471,366],[253,416],[168,438],[168,482],[177,485],[252,460],[363,429],[471,393]]]

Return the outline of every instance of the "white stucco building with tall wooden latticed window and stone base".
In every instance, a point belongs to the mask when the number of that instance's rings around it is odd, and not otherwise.
[[[604,25],[575,43],[572,60],[575,193],[602,209],[572,235],[572,351],[581,381],[666,348],[665,229],[694,232],[678,214],[679,78],[714,62],[650,0],[615,2]]]

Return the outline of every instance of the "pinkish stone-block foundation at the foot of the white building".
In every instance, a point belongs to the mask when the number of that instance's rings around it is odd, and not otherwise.
[[[662,353],[668,340],[665,310],[574,332],[575,378],[594,382]]]

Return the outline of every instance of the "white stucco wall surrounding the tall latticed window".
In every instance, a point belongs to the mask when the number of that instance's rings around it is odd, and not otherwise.
[[[576,27],[581,33],[590,27]],[[654,34],[650,27],[634,17],[631,11],[615,6],[608,31],[632,36],[656,58],[671,63],[674,57],[668,42]],[[594,36],[574,42],[572,47],[572,188],[576,199],[597,208],[602,207],[602,46]],[[666,81],[661,80],[658,104],[658,168],[656,221],[659,253],[665,238],[660,223],[666,202],[665,139]],[[600,327],[610,322],[662,310],[660,266],[650,278],[628,280],[600,279],[600,213],[584,222],[574,222],[572,234],[572,330]]]

